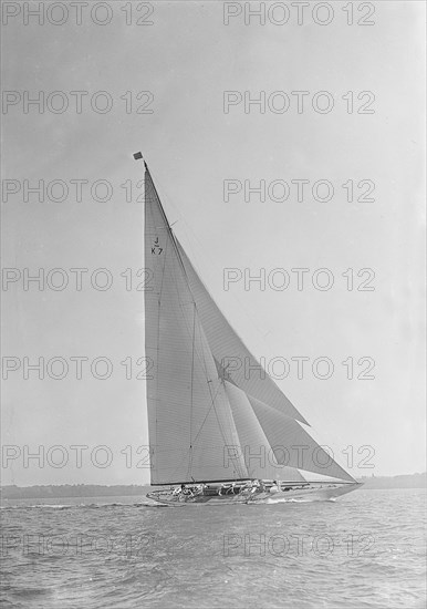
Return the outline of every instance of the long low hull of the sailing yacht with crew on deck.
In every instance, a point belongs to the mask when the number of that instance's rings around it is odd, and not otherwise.
[[[154,499],[157,503],[184,506],[184,505],[230,505],[230,504],[279,504],[279,503],[309,503],[309,502],[327,502],[333,500],[342,495],[346,495],[352,491],[360,488],[362,484],[325,484],[325,485],[309,485],[304,487],[290,488],[287,492],[277,493],[239,493],[237,495],[183,495],[174,494],[173,489],[168,491],[154,491],[148,493],[147,497]]]

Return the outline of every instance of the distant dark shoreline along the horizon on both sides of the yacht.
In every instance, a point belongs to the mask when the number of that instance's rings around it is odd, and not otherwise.
[[[374,488],[425,488],[427,475],[407,474],[400,476],[372,476],[357,478],[364,484],[364,489]],[[2,499],[45,499],[61,497],[117,497],[145,495],[149,485],[97,485],[97,484],[63,484],[38,486],[2,486]]]

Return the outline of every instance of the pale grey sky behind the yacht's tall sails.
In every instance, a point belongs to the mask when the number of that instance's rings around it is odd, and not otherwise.
[[[311,433],[353,476],[425,471],[424,3],[375,2],[369,17],[354,2],[352,25],[345,2],[331,2],[333,14],[311,2],[301,24],[290,2],[283,24],[269,12],[260,24],[244,2],[133,3],[132,13],[104,2],[82,9],[81,24],[66,2],[67,16],[30,2],[42,17],[3,4],[2,484],[149,479],[137,151],[238,334],[268,364],[289,362],[277,383]],[[225,11],[237,13],[228,24]],[[296,91],[308,92],[301,112]],[[263,94],[261,112],[248,102]],[[241,102],[225,109],[225,96]],[[302,200],[298,179],[309,180]],[[312,196],[321,179],[331,200]],[[42,200],[27,192],[39,180]],[[242,190],[227,200],[225,180]],[[290,194],[244,200],[244,180],[282,180]],[[373,200],[357,200],[372,185]],[[302,268],[298,289],[291,269]],[[27,282],[39,269],[40,286]],[[71,269],[87,269],[81,289]],[[287,289],[274,289],[273,269],[278,280],[288,272]],[[230,272],[241,279],[227,286]],[[265,286],[248,282],[260,272]],[[329,379],[313,373],[321,357]],[[39,358],[42,379],[25,364]],[[75,358],[86,358],[82,378]]]

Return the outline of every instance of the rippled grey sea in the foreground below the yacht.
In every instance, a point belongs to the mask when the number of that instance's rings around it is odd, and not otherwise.
[[[145,497],[3,502],[2,607],[426,607],[426,492],[162,507]]]

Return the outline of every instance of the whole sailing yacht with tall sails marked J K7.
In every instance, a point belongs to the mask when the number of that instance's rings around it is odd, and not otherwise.
[[[212,300],[144,165],[150,483],[165,487],[147,496],[176,506],[225,505],[324,500],[354,491],[360,484],[305,431],[305,419]]]

